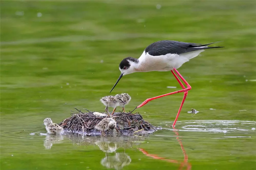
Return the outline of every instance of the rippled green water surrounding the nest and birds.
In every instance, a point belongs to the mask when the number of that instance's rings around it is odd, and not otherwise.
[[[1,1],[1,169],[255,169],[255,7],[255,1]],[[120,75],[120,61],[166,39],[225,46],[179,68],[192,89],[175,130],[181,93],[137,109],[163,128],[150,135],[46,135],[46,117],[60,123],[74,107],[102,112],[99,99]],[[179,89],[170,72],[147,72],[124,76],[112,93],[129,93],[132,110]],[[187,113],[191,108],[199,113]]]

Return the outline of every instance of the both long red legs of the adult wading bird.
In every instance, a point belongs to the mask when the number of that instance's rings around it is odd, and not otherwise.
[[[164,97],[164,96],[168,96],[168,95],[172,95],[172,94],[176,94],[176,93],[181,93],[181,92],[184,92],[184,96],[183,96],[183,99],[182,99],[182,102],[181,102],[181,105],[180,105],[180,108],[179,108],[179,111],[177,113],[177,116],[172,124],[172,126],[175,126],[176,122],[177,122],[177,119],[179,117],[179,114],[180,114],[180,111],[181,111],[181,108],[183,106],[183,103],[185,102],[185,99],[187,97],[187,94],[188,94],[188,91],[191,89],[191,86],[188,84],[188,82],[181,76],[181,74],[178,72],[178,70],[176,68],[173,69],[177,75],[181,78],[181,80],[186,84],[187,88],[185,88],[183,86],[183,84],[181,83],[181,81],[179,80],[179,78],[175,75],[175,73],[171,70],[173,76],[176,78],[176,80],[178,81],[178,83],[180,84],[180,86],[182,87],[182,90],[178,90],[178,91],[175,91],[175,92],[171,92],[171,93],[167,93],[167,94],[163,94],[163,95],[160,95],[160,96],[156,96],[156,97],[153,97],[153,98],[149,98],[147,100],[145,100],[144,102],[142,102],[139,106],[137,106],[136,108],[139,108],[139,107],[142,107],[144,106],[145,104],[147,104],[148,102],[150,102],[151,100],[155,100],[155,99],[158,99],[158,98],[161,98],[161,97]]]

